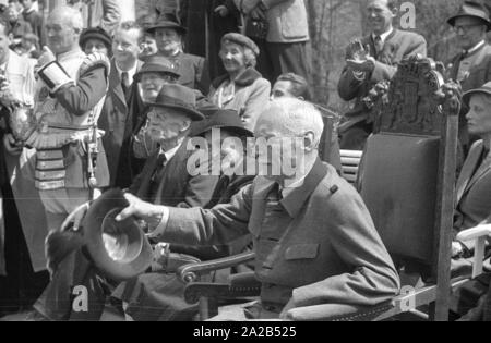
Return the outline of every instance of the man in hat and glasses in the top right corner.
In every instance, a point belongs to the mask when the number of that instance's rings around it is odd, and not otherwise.
[[[491,46],[487,42],[491,22],[487,8],[475,1],[465,1],[447,23],[457,34],[457,44],[462,50],[448,65],[448,78],[460,83],[464,91],[481,87],[491,81]],[[465,156],[477,138],[469,137],[465,118],[467,112],[468,108],[463,107],[459,120],[459,140]]]

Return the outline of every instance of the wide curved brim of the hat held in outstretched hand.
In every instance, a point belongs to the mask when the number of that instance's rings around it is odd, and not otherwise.
[[[94,265],[106,277],[120,282],[144,273],[153,260],[152,246],[144,237],[143,231],[141,232],[143,235],[142,250],[133,261],[117,261],[106,250],[103,240],[103,222],[110,211],[128,206],[129,203],[120,189],[108,191],[91,206],[83,223],[86,248]]]

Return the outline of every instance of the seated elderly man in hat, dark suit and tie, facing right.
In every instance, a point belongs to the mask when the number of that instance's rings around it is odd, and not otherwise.
[[[148,117],[148,130],[153,139],[159,142],[160,148],[147,160],[129,192],[152,204],[182,208],[207,205],[219,176],[192,175],[187,170],[188,160],[194,154],[193,149],[189,149],[191,123],[204,119],[195,109],[194,91],[181,85],[163,86],[155,102],[151,103]],[[53,278],[35,309],[48,319],[70,319],[70,289],[73,285],[86,286],[96,297],[92,299],[85,319],[99,319],[105,298],[110,294],[110,282],[100,278],[83,253],[85,242],[79,229],[87,208],[88,204],[77,210],[73,230],[65,232],[63,229],[68,223],[64,223],[61,232],[52,233],[47,238]]]

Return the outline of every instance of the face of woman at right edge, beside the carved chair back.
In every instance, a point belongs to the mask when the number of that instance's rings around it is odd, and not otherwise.
[[[491,97],[477,94],[470,98],[467,127],[476,136],[491,135]]]

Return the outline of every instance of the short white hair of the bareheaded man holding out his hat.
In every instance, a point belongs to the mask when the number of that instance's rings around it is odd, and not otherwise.
[[[313,144],[319,147],[324,132],[324,121],[321,112],[312,103],[285,97],[273,100],[270,108],[272,107],[280,110],[280,114],[275,120],[282,133],[301,136],[312,132]]]

